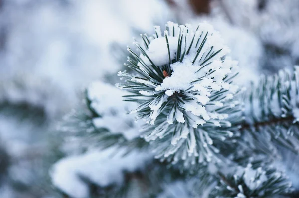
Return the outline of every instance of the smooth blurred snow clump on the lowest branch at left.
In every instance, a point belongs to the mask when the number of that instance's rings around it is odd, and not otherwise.
[[[91,151],[80,156],[70,156],[58,161],[51,169],[53,184],[72,198],[88,198],[88,186],[81,177],[86,177],[99,186],[121,185],[123,171],[142,169],[152,155],[132,151],[122,157],[123,152],[115,148]]]

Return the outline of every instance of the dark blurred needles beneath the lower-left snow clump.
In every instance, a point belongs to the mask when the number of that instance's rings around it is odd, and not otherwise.
[[[148,162],[138,170],[123,171],[122,174],[124,175],[122,183],[107,185],[101,185],[82,173],[79,173],[78,177],[88,187],[89,195],[86,196],[89,198],[153,198],[164,190],[165,185],[187,178],[186,174],[180,174],[177,169],[167,167],[166,164],[156,160]],[[72,198],[72,194],[64,192],[63,188],[58,187],[58,191],[64,197]]]

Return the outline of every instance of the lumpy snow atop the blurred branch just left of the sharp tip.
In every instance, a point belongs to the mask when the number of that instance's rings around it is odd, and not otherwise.
[[[101,116],[93,119],[97,128],[122,133],[129,140],[140,135],[142,121],[135,121],[134,116],[128,114],[136,104],[122,100],[126,92],[100,81],[92,83],[87,91],[91,107]]]

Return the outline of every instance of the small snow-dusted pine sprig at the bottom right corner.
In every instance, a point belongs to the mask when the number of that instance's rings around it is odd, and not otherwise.
[[[236,167],[232,172],[228,175],[218,172],[220,180],[211,191],[211,198],[272,198],[292,191],[285,175],[269,164],[253,167],[250,163],[245,168]]]

